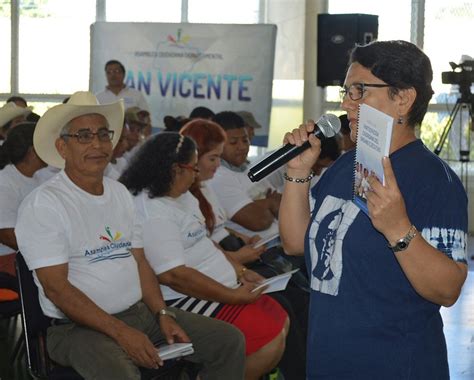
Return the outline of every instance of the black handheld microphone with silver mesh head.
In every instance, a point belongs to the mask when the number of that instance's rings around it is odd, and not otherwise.
[[[335,136],[341,129],[339,118],[330,113],[321,116],[315,124],[315,130],[312,133],[320,140]],[[250,180],[252,182],[260,181],[310,146],[309,141],[304,142],[301,146],[290,143],[282,146],[249,169],[248,176]]]

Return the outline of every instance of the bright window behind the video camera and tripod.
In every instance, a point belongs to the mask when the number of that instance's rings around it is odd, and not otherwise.
[[[441,134],[448,126],[449,114],[454,103],[460,97],[456,80],[452,84],[443,84],[442,72],[452,70],[449,62],[456,64],[461,60],[474,59],[474,45],[470,43],[474,24],[474,4],[472,1],[452,0],[449,2],[427,1],[425,6],[424,51],[430,57],[433,66],[432,103],[437,104],[436,112],[431,118],[425,117],[422,137],[425,143],[434,149],[437,147]],[[470,72],[471,76],[474,72]],[[459,78],[459,77],[458,77]],[[456,79],[456,78],[450,78]],[[463,92],[469,97],[474,88],[466,86]],[[464,109],[463,109],[464,108]],[[443,158],[457,161],[461,158],[460,151],[471,151],[471,137],[467,133],[469,115],[466,107],[460,107],[456,117],[450,121],[450,133],[441,150]],[[474,154],[470,153],[471,161]]]

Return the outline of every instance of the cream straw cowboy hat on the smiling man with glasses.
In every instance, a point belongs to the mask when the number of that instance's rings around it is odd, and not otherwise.
[[[109,123],[109,129],[115,132],[112,140],[112,145],[115,147],[122,133],[123,100],[111,104],[99,104],[91,92],[78,91],[71,95],[66,104],[50,108],[39,119],[33,135],[33,145],[38,156],[48,165],[63,168],[64,159],[55,145],[61,129],[72,119],[93,113],[104,116]]]

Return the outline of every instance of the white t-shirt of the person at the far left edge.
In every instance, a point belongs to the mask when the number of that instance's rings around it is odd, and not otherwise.
[[[0,229],[15,228],[21,201],[38,185],[35,177],[21,174],[15,165],[7,165],[0,170]],[[0,256],[14,251],[0,244]]]

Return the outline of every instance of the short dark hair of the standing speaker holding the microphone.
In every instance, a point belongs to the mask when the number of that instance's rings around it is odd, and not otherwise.
[[[433,96],[433,69],[428,56],[416,45],[402,40],[374,41],[356,46],[349,64],[358,62],[377,78],[389,84],[390,94],[414,88],[416,99],[408,114],[408,124],[420,125]]]

